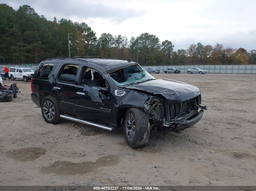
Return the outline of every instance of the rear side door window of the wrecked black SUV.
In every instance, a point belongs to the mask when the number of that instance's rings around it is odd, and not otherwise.
[[[66,64],[62,68],[62,71],[59,74],[58,80],[69,82],[69,83],[75,83],[77,71],[78,71],[77,64]]]

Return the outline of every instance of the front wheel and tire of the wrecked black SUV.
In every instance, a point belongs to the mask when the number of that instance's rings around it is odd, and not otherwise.
[[[128,109],[125,115],[125,137],[130,147],[144,147],[148,143],[149,133],[146,113],[135,108]]]

